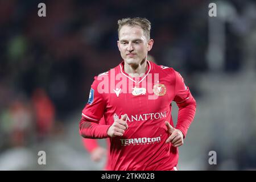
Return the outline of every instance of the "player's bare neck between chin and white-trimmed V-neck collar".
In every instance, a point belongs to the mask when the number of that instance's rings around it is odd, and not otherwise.
[[[131,77],[141,77],[147,71],[147,61],[144,59],[141,64],[127,64],[125,62],[124,70]]]

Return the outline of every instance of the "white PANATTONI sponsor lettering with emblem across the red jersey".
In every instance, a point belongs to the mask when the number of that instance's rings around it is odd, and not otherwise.
[[[126,122],[134,122],[134,121],[147,121],[149,119],[162,119],[166,118],[167,111],[163,111],[160,113],[146,113],[146,114],[135,114],[135,115],[127,115]],[[121,118],[123,115],[121,115]],[[113,115],[114,121],[119,119],[118,115],[115,113]]]

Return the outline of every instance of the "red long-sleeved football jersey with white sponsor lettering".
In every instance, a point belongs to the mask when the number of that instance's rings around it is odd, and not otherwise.
[[[165,121],[174,123],[171,102],[179,107],[176,129],[187,134],[196,112],[196,101],[183,77],[173,68],[147,61],[142,77],[125,73],[124,62],[94,77],[88,104],[82,110],[80,133],[88,138],[108,137],[115,119],[127,114],[128,129],[110,138],[112,170],[173,170],[178,148],[166,143],[170,136]],[[98,125],[104,115],[106,125]],[[90,125],[85,122],[91,122]],[[85,124],[84,124],[85,123]]]

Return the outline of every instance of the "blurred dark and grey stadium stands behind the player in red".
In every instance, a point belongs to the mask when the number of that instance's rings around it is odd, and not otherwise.
[[[255,1],[0,0],[0,170],[103,168],[79,121],[93,77],[121,61],[117,20],[129,16],[151,21],[150,55],[179,71],[197,101],[179,169],[256,169]]]

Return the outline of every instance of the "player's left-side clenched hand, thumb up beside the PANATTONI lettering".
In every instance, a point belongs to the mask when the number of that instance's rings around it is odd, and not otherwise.
[[[107,134],[109,137],[122,137],[125,130],[128,129],[126,123],[127,114],[123,115],[122,119],[117,119],[114,121],[113,125],[109,127]]]

